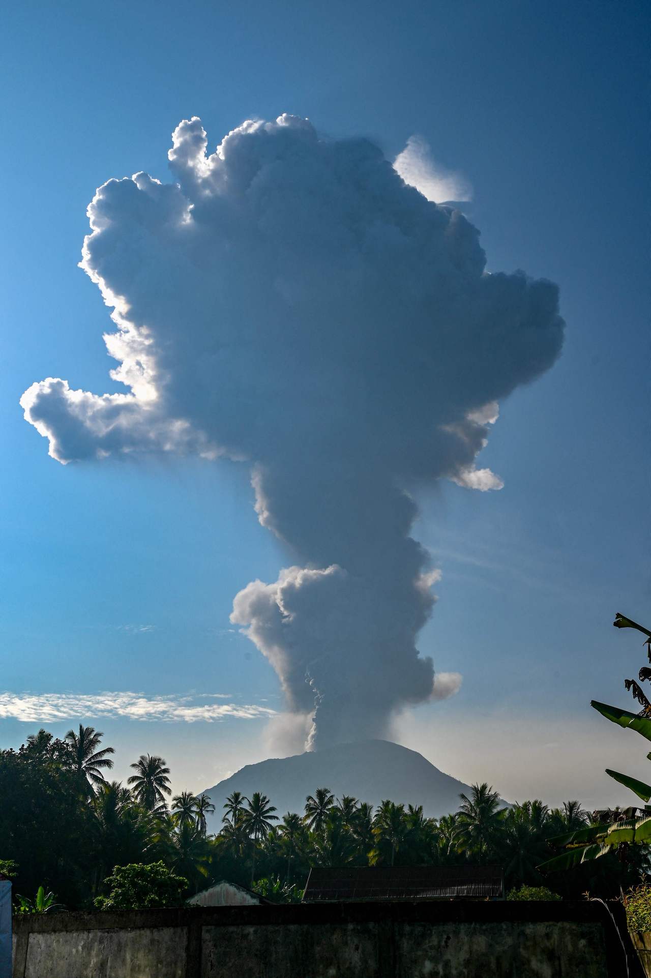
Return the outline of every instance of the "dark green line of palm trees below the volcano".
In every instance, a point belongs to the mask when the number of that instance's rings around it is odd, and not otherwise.
[[[302,813],[281,815],[260,792],[234,792],[221,828],[207,834],[214,806],[206,795],[172,795],[170,771],[144,754],[126,784],[109,781],[111,747],[79,725],[63,739],[40,730],[18,750],[0,751],[0,869],[15,867],[14,891],[39,886],[68,909],[93,906],[108,892],[114,867],[159,864],[187,880],[190,896],[219,879],[276,894],[302,889],[310,867],[504,867],[507,888],[545,885],[563,897],[619,896],[639,882],[649,847],[634,847],[564,872],[538,868],[554,855],[549,839],[620,813],[587,813],[578,801],[549,808],[541,800],[504,806],[487,783],[459,795],[456,812],[425,817],[422,806],[382,801],[373,809],[319,787]],[[219,814],[219,813],[217,813]]]

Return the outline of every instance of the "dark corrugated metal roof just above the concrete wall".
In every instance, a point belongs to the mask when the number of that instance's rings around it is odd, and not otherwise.
[[[498,866],[314,867],[303,901],[496,899],[503,892]]]

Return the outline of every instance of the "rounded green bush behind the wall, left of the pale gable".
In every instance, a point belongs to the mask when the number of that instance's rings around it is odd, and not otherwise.
[[[182,893],[188,888],[185,876],[176,876],[162,861],[147,866],[116,866],[104,882],[109,896],[95,899],[95,906],[101,911],[181,907]]]

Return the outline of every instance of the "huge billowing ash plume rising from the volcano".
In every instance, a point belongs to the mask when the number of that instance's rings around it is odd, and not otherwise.
[[[499,488],[474,459],[496,402],[560,351],[557,289],[487,274],[458,211],[369,141],[322,139],[306,119],[245,122],[206,156],[194,118],[169,159],[178,183],[109,180],[89,207],[82,267],[113,307],[111,376],[131,392],[48,378],[23,394],[25,418],[63,463],[246,462],[294,565],[244,588],[233,621],[288,710],[314,713],[313,744],[382,734],[460,681],[435,683],[415,646],[433,577],[406,490]]]

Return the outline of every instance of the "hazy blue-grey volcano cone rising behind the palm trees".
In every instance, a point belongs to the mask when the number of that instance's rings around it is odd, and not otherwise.
[[[215,814],[207,819],[208,831],[220,830],[224,804],[234,791],[246,798],[254,791],[266,794],[280,818],[285,812],[302,815],[306,796],[320,787],[337,798],[353,795],[372,805],[385,798],[422,805],[425,816],[437,819],[456,812],[459,794],[471,792],[468,784],[445,775],[415,750],[390,740],[362,740],[247,764],[231,778],[205,788],[202,793],[215,806]]]

